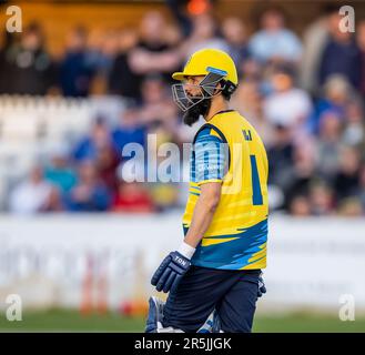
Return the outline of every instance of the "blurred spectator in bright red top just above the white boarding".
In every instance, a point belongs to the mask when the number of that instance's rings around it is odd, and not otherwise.
[[[115,212],[153,212],[153,202],[146,187],[139,182],[120,182],[112,210]]]

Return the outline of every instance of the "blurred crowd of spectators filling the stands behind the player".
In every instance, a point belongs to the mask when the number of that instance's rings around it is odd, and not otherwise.
[[[173,3],[173,1],[169,1]],[[95,118],[74,146],[52,152],[10,193],[13,212],[169,211],[181,206],[181,184],[125,183],[129,142],[146,145],[191,141],[171,98],[171,73],[201,48],[229,52],[240,72],[231,100],[257,129],[270,161],[271,209],[293,215],[365,213],[365,20],[339,30],[338,8],[326,6],[304,33],[294,33],[278,7],[264,10],[260,27],[209,12],[186,16],[172,7],[173,23],[148,12],[139,28],[74,28],[64,53],[52,58],[47,33],[29,26],[6,36],[0,49],[0,93],[125,100],[116,125]]]

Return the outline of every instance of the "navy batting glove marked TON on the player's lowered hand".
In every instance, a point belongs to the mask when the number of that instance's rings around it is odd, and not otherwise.
[[[151,284],[164,293],[174,292],[191,262],[179,252],[170,253],[152,276]]]

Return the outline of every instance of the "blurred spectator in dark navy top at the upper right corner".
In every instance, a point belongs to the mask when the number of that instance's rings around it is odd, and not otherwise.
[[[359,88],[362,55],[351,32],[341,31],[338,12],[329,19],[329,37],[320,61],[320,84],[332,74],[342,74],[354,88]]]

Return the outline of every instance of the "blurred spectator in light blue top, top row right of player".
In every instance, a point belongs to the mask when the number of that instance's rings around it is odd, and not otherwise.
[[[253,34],[249,43],[250,53],[260,62],[298,62],[302,43],[285,28],[281,9],[270,8],[261,16],[262,29]]]

